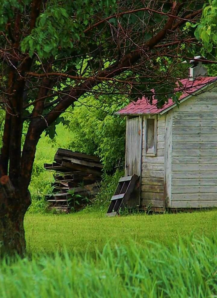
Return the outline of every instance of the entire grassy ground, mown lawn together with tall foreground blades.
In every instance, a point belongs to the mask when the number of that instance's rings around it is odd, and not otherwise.
[[[1,261],[0,297],[214,298],[216,226],[216,210],[115,218],[27,214],[33,254]]]

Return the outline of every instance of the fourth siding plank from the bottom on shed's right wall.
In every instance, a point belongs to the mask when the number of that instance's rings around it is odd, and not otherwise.
[[[217,178],[203,178],[201,174],[200,178],[173,178],[172,186],[190,186],[190,185],[217,185]]]

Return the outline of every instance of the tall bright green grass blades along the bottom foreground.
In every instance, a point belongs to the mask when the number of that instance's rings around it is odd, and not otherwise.
[[[34,257],[0,267],[1,298],[174,297],[217,294],[215,238],[177,245],[131,241],[102,252]]]

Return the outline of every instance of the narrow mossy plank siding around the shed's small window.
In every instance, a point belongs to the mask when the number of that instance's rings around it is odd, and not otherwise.
[[[141,206],[164,207],[165,116],[157,120],[157,154],[146,154],[145,117],[143,121]]]

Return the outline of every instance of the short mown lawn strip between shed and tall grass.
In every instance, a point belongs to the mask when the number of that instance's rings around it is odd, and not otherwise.
[[[78,212],[69,215],[27,214],[25,230],[29,254],[62,251],[102,251],[107,241],[127,244],[134,240],[170,245],[181,237],[211,237],[217,228],[217,211],[164,215],[131,215],[106,218],[105,212]]]

